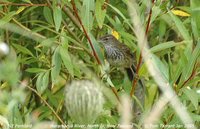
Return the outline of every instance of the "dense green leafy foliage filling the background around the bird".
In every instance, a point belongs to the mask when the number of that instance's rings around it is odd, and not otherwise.
[[[66,84],[94,78],[102,83],[105,96],[103,112],[94,124],[117,126],[121,120],[117,97],[129,95],[132,83],[123,70],[107,67],[98,38],[117,33],[114,35],[135,53],[135,65],[139,63],[141,53],[127,3],[1,0],[0,42],[10,51],[0,49],[0,128],[6,128],[5,121],[10,127],[35,128],[40,123],[74,123],[65,107]],[[137,0],[137,4],[156,65],[195,126],[200,127],[200,1],[157,0],[152,4],[150,0]],[[146,64],[143,61],[137,67],[146,88],[144,112],[150,111],[162,95]],[[110,78],[105,79],[105,74]],[[163,110],[158,128],[183,127],[170,105]],[[134,127],[141,128],[142,124],[141,118]]]

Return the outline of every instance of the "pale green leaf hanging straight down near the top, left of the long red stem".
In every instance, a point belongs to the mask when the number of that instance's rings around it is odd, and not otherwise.
[[[53,8],[53,19],[56,31],[58,31],[62,22],[62,10],[59,6]]]

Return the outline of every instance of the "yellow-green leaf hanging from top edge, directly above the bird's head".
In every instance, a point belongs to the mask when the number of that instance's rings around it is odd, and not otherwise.
[[[106,16],[106,9],[102,8],[104,1],[105,0],[97,0],[96,1],[95,16],[96,16],[99,28],[102,28],[103,22],[104,22],[104,19]]]

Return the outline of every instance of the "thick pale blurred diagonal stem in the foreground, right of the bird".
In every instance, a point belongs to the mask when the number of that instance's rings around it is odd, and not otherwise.
[[[171,106],[175,110],[176,114],[181,119],[182,123],[184,124],[184,127],[187,129],[196,129],[194,122],[192,118],[190,117],[189,113],[187,112],[187,108],[181,103],[176,93],[173,91],[172,86],[170,85],[170,82],[166,80],[166,78],[162,75],[159,67],[156,65],[154,60],[149,60],[152,58],[152,54],[148,47],[147,37],[145,35],[145,31],[143,31],[143,27],[141,24],[138,10],[136,9],[138,6],[135,1],[132,1],[128,3],[128,8],[131,16],[131,21],[135,28],[135,34],[138,40],[138,46],[140,50],[142,51],[142,56],[145,61],[147,62],[147,70],[149,71],[150,75],[153,77],[156,84],[158,84],[159,88],[163,92],[163,97],[166,100],[166,102],[170,102]],[[144,48],[143,48],[144,47]],[[143,49],[142,49],[143,48]],[[157,108],[154,108],[155,111],[157,111]],[[160,108],[164,109],[164,108]],[[146,117],[146,120],[144,120],[144,125],[147,125],[147,128],[149,124],[154,125],[159,120],[161,113],[164,110],[160,110],[161,112],[155,116],[155,115],[149,115]],[[190,125],[190,126],[188,126]],[[156,126],[153,126],[152,128],[155,128]]]

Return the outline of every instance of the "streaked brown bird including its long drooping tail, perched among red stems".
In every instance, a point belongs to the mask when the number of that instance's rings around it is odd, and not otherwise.
[[[134,65],[135,56],[131,49],[125,44],[117,40],[113,35],[106,34],[99,38],[99,42],[103,45],[105,49],[105,57],[108,63],[114,67],[125,68],[129,79],[133,81],[136,77],[136,67]],[[140,100],[142,105],[144,104],[144,84],[141,79],[138,80],[138,85],[136,86],[134,95]],[[141,109],[139,105],[134,106],[135,114],[140,115]]]

